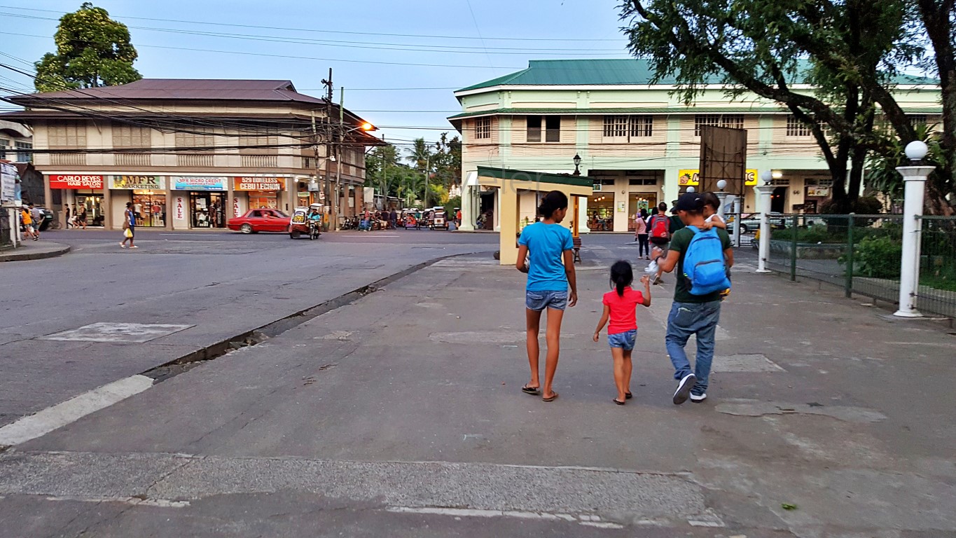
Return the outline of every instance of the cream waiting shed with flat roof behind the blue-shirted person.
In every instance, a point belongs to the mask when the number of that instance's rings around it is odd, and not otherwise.
[[[478,184],[498,189],[501,229],[501,265],[513,265],[518,260],[517,237],[522,225],[534,222],[538,200],[550,191],[559,190],[568,195],[569,211],[566,221],[577,238],[581,198],[591,196],[594,182],[586,177],[570,174],[548,174],[508,168],[478,167]]]

